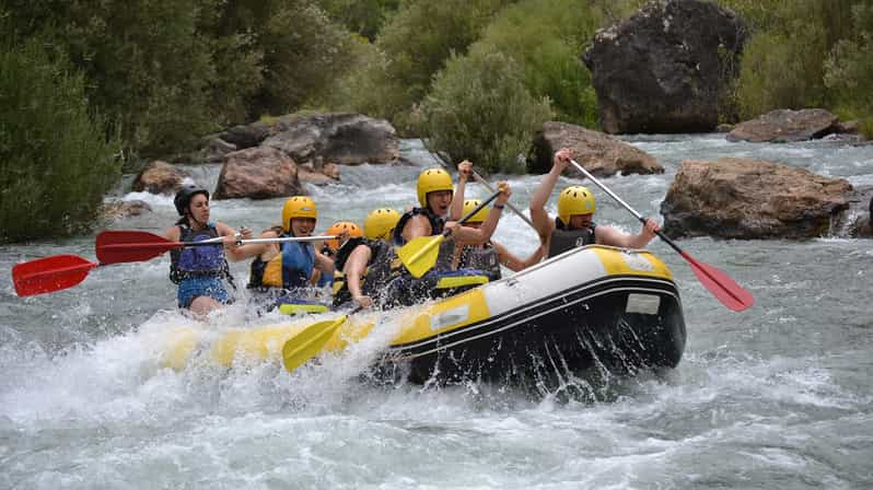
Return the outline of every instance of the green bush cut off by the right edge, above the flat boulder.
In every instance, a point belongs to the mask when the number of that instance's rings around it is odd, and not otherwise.
[[[825,62],[825,83],[840,112],[858,117],[861,131],[873,138],[873,5],[853,9],[854,35],[837,43]]]

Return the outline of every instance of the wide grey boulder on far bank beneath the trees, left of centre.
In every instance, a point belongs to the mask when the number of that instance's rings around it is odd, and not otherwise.
[[[360,114],[318,114],[298,119],[261,145],[281,150],[295,162],[316,158],[346,165],[388,163],[399,155],[394,127]]]

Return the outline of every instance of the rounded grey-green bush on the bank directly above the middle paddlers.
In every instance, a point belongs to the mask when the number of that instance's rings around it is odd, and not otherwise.
[[[551,117],[548,101],[527,92],[517,63],[488,46],[452,56],[421,113],[435,151],[491,172],[523,172],[534,132]]]

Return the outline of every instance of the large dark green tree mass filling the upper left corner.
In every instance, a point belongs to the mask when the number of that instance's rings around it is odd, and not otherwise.
[[[348,63],[348,33],[307,0],[0,0],[49,32],[143,154],[299,108]]]

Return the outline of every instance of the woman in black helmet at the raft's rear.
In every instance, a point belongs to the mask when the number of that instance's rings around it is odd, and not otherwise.
[[[172,242],[201,242],[222,237],[217,246],[176,248],[170,252],[170,280],[178,284],[178,306],[202,316],[232,302],[226,284],[233,285],[228,259],[245,260],[257,255],[254,245],[237,245],[251,238],[243,228],[237,235],[229,225],[209,221],[209,191],[196,185],[183,186],[173,203],[179,220],[163,232]]]

